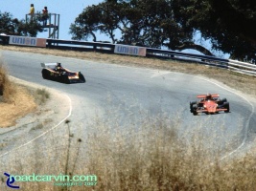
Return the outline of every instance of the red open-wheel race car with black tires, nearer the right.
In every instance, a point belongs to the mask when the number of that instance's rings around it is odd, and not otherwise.
[[[220,99],[218,94],[198,95],[199,101],[190,102],[190,112],[194,116],[198,113],[217,114],[221,111],[229,113],[229,103],[226,98]]]

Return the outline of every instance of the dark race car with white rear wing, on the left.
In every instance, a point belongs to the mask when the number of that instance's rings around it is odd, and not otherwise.
[[[65,68],[62,68],[60,63],[41,63],[42,77],[62,83],[84,83],[85,78],[81,72],[74,73]]]

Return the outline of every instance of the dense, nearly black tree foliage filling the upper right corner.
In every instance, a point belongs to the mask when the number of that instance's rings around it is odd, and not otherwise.
[[[197,29],[212,48],[231,58],[255,60],[256,2],[253,0],[174,0],[178,23]]]

